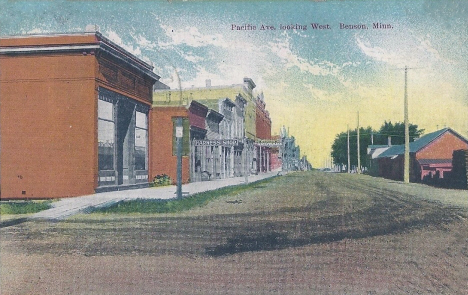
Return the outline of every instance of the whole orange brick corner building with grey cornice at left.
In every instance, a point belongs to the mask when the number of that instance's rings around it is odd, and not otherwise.
[[[152,65],[99,32],[0,38],[0,196],[147,183]]]

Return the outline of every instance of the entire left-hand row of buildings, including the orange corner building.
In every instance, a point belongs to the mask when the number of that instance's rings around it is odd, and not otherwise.
[[[99,32],[0,38],[0,197],[60,198],[282,166],[255,83],[168,89],[153,66]],[[158,89],[154,89],[155,83]],[[163,88],[163,89],[161,89]]]

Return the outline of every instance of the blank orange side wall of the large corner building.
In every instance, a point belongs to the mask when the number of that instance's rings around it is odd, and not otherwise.
[[[0,57],[1,197],[94,192],[95,57]]]

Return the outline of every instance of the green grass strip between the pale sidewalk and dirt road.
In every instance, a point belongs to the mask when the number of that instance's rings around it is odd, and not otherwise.
[[[178,213],[196,207],[202,207],[210,201],[229,195],[236,195],[243,191],[268,183],[275,177],[246,185],[229,186],[213,191],[194,194],[183,199],[172,200],[143,200],[121,201],[107,208],[96,209],[94,213]]]

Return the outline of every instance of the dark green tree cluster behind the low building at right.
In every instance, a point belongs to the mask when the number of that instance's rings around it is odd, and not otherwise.
[[[424,132],[424,129],[418,129],[418,125],[409,124],[410,142],[415,138],[419,138]],[[372,144],[372,137],[374,145],[386,145],[388,143],[388,136],[392,138],[392,145],[405,143],[405,124],[397,122],[393,124],[391,121],[385,123],[380,127],[379,131],[375,131],[372,127],[361,127],[359,129],[359,145],[361,166],[369,167],[367,158],[367,147]],[[348,147],[347,147],[347,132],[337,134],[332,144],[331,156],[335,164],[347,165],[348,164]],[[349,131],[349,150],[351,166],[357,166],[357,132],[356,129]]]

